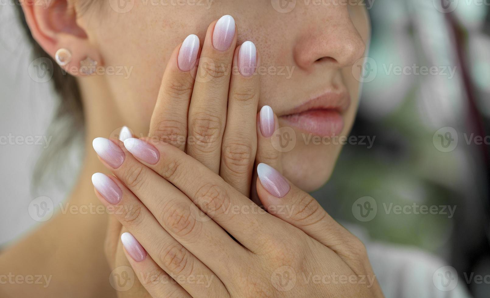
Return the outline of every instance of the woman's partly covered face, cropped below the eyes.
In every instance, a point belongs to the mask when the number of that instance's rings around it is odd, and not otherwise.
[[[284,174],[311,191],[328,180],[342,147],[338,138],[315,136],[347,135],[356,114],[353,65],[369,38],[363,2],[110,0],[78,22],[104,66],[131,69],[129,75],[105,76],[104,84],[125,124],[147,131],[172,50],[189,34],[202,45],[212,21],[233,16],[238,45],[252,41],[261,56],[259,110],[272,107],[283,127]]]

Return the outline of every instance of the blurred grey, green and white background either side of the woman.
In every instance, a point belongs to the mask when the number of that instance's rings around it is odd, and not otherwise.
[[[372,40],[354,138],[313,195],[364,240],[380,277],[396,281],[375,262],[392,257],[434,284],[419,297],[459,297],[439,274],[490,297],[490,1],[364,2]],[[27,57],[13,2],[0,1],[0,247],[39,224],[28,212],[35,198],[62,202],[83,154],[72,143],[58,175],[34,191],[57,99],[35,73],[52,65]]]

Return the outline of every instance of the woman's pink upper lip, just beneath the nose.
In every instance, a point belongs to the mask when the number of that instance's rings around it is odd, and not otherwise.
[[[283,116],[294,115],[311,110],[337,110],[344,112],[350,105],[349,93],[345,90],[322,92],[306,102],[287,111]]]

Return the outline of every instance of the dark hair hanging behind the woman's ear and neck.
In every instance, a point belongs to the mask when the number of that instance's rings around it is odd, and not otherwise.
[[[55,138],[53,138],[50,148],[41,153],[34,168],[33,187],[37,189],[44,181],[47,170],[52,171],[56,168],[57,161],[62,160],[67,154],[68,150],[65,149],[73,142],[77,133],[83,131],[83,104],[75,77],[63,71],[32,37],[19,1],[15,0],[17,15],[24,29],[25,37],[32,47],[32,58],[44,57],[52,62],[53,69],[50,82],[58,97],[58,105],[47,131],[48,136],[55,136]]]

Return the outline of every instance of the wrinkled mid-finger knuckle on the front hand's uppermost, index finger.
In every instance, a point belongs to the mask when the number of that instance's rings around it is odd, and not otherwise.
[[[225,212],[231,205],[226,190],[213,183],[200,187],[195,198],[197,198],[196,205],[208,215]]]

